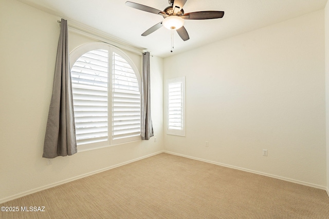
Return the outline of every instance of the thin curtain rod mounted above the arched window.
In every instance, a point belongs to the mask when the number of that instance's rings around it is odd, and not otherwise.
[[[57,23],[61,24],[61,21],[57,21]],[[96,33],[93,33],[93,32],[89,32],[87,30],[84,30],[84,29],[81,29],[79,27],[76,27],[74,25],[70,25],[70,24],[67,24],[68,27],[71,27],[71,28],[74,28],[78,31],[81,31],[83,32],[84,34],[88,35],[89,37],[92,36],[93,38],[99,40],[99,41],[102,41],[104,43],[107,43],[109,45],[112,45],[112,46],[115,46],[115,47],[118,47],[118,48],[122,48],[122,49],[126,49],[126,50],[129,50],[131,52],[134,52],[134,53],[137,53],[137,54],[145,54],[145,49],[140,49],[140,50],[144,50],[144,51],[140,51],[138,50],[137,48],[133,48],[129,45],[125,45],[124,43],[121,43],[121,42],[115,42],[115,39],[112,40],[112,39],[108,39],[106,38],[106,36],[100,36],[100,35],[97,35]],[[150,56],[153,57],[153,55],[150,54]]]

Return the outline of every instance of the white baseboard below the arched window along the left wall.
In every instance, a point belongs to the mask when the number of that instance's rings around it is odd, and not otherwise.
[[[55,187],[55,186],[59,186],[59,185],[65,184],[65,183],[69,183],[69,182],[72,182],[72,181],[75,181],[75,180],[79,180],[80,178],[84,178],[86,176],[94,175],[96,173],[104,172],[106,170],[111,170],[111,169],[116,168],[116,167],[120,167],[120,166],[129,164],[129,163],[133,163],[135,161],[139,161],[139,160],[142,160],[144,158],[154,156],[154,155],[162,153],[162,152],[164,152],[164,151],[159,151],[159,152],[155,152],[155,153],[152,153],[152,154],[148,154],[148,155],[145,155],[145,156],[142,156],[142,157],[135,158],[131,161],[126,161],[126,162],[116,164],[116,165],[113,165],[113,166],[110,166],[110,167],[106,167],[106,168],[103,168],[103,169],[100,169],[100,170],[85,173],[85,174],[78,175],[78,176],[75,176],[75,177],[72,177],[72,178],[68,178],[68,179],[63,180],[63,181],[59,181],[59,182],[52,183],[52,184],[49,184],[49,185],[46,185],[46,186],[31,189],[31,190],[28,190],[28,191],[25,191],[25,192],[22,192],[22,193],[19,193],[19,194],[15,194],[15,195],[12,195],[12,196],[9,196],[9,197],[5,197],[5,198],[0,200],[0,204],[5,203],[5,202],[9,202],[9,201],[14,200],[16,198],[20,198],[20,197],[23,197],[23,196],[26,196],[26,195],[29,195],[29,194],[33,194],[35,192],[40,192],[40,191],[45,190],[45,189],[49,189],[49,188],[52,188],[52,187]]]

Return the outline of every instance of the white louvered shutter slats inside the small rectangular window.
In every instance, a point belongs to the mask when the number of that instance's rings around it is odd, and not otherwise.
[[[171,83],[168,85],[168,127],[169,129],[182,129],[182,84]]]

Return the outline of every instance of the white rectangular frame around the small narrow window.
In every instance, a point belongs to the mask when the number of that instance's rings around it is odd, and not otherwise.
[[[181,83],[181,129],[171,129],[169,126],[169,85]],[[167,79],[166,82],[166,93],[167,93],[167,134],[169,135],[177,135],[177,136],[185,136],[186,135],[186,91],[185,91],[185,76],[170,78]]]

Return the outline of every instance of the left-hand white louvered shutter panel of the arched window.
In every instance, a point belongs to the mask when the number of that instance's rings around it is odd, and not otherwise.
[[[77,144],[108,140],[108,51],[83,54],[71,68]]]

